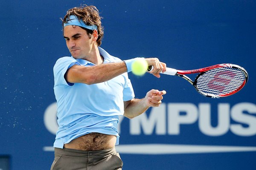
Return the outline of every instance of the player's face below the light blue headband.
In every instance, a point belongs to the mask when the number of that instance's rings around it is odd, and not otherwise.
[[[93,47],[93,39],[89,38],[86,30],[79,26],[65,26],[64,38],[67,48],[75,59],[89,57]]]

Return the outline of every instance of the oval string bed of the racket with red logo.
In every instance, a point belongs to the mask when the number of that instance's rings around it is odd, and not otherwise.
[[[239,89],[245,79],[244,71],[239,68],[215,68],[198,77],[196,86],[202,94],[221,96]]]

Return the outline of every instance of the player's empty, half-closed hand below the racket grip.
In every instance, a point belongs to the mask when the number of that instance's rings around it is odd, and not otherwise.
[[[144,101],[148,107],[158,107],[162,103],[163,95],[166,94],[166,91],[159,91],[152,89],[146,94]]]

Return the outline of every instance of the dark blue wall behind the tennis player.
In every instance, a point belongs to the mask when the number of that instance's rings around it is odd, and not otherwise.
[[[99,9],[105,27],[101,47],[116,57],[158,57],[169,67],[181,70],[233,63],[249,73],[247,85],[225,99],[205,98],[179,77],[162,75],[157,79],[150,74],[136,77],[129,73],[137,98],[152,88],[166,90],[167,94],[161,109],[149,109],[147,117],[122,119],[119,152],[124,170],[255,169],[255,1],[13,0],[0,5],[0,155],[11,156],[12,170],[46,170],[52,164],[55,135],[51,130],[56,122],[52,68],[59,57],[70,56],[60,18],[81,4]],[[191,106],[194,112],[186,113],[180,105]],[[200,110],[202,105],[211,107],[211,119],[204,117],[209,112]],[[180,109],[180,118],[188,120],[188,115],[194,115],[187,124],[180,123],[177,134],[168,129],[172,107]],[[54,119],[46,118],[47,113],[52,113]],[[153,119],[153,113],[166,121]],[[209,135],[202,124],[208,121],[212,128],[217,127],[220,119],[228,129]],[[148,121],[151,129],[138,120]],[[250,148],[246,152],[222,149],[199,153],[196,149],[195,153],[163,154],[157,153],[158,147],[150,147],[147,150],[153,153],[146,154],[126,153],[122,146],[127,144]]]

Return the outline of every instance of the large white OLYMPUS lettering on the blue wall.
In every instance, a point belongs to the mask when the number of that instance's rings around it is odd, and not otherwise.
[[[151,108],[148,116],[141,114],[130,119],[131,135],[179,135],[180,126],[192,125],[198,121],[201,133],[207,136],[221,136],[229,130],[237,136],[256,135],[256,105],[242,102],[230,108],[228,103],[218,104],[218,124],[211,125],[210,103],[199,103],[198,107],[193,103],[162,103],[160,107]],[[167,109],[166,109],[167,108]],[[56,102],[49,105],[44,113],[44,124],[47,130],[56,134],[57,124]],[[230,123],[230,118],[235,121]],[[123,116],[120,116],[118,130],[121,133]],[[167,126],[166,126],[167,123]]]

